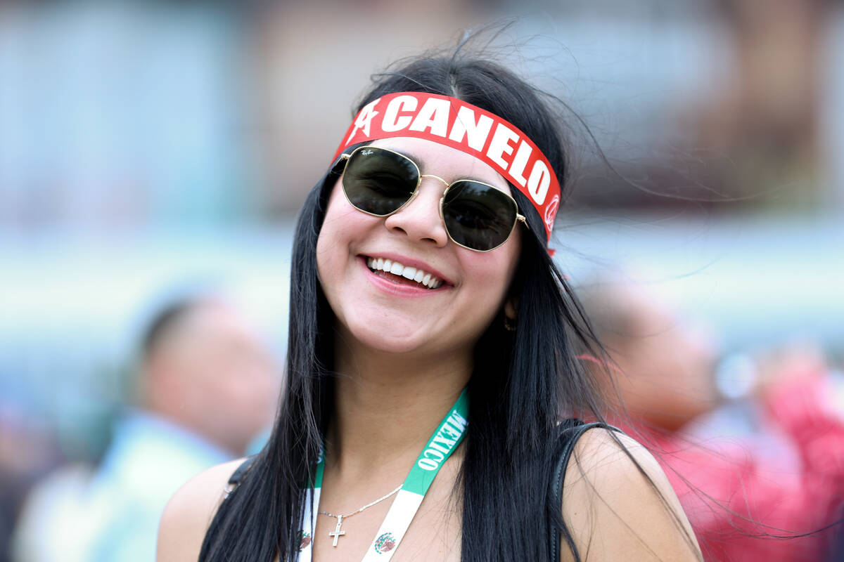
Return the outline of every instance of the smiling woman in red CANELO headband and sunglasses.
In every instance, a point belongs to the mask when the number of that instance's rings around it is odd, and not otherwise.
[[[584,432],[549,491],[561,417],[601,417],[549,256],[558,122],[491,62],[377,77],[299,218],[273,435],[229,495],[241,462],[174,496],[161,562],[700,559],[626,436]]]

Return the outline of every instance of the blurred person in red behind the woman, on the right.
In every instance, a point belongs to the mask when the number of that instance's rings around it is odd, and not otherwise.
[[[760,432],[719,438],[700,423],[722,404],[706,330],[631,281],[608,277],[579,295],[609,354],[606,367],[584,358],[616,372],[606,392],[624,413],[614,421],[661,453],[706,559],[824,559],[829,533],[813,532],[836,520],[844,498],[844,417],[828,400],[820,352],[760,357],[749,397]]]

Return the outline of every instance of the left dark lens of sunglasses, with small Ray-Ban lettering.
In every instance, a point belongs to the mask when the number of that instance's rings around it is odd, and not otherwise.
[[[363,147],[346,163],[343,189],[349,202],[373,215],[389,215],[408,202],[419,182],[419,169],[408,158]]]

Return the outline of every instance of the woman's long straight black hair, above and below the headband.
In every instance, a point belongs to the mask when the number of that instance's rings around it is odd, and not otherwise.
[[[506,68],[458,49],[405,62],[373,80],[358,110],[403,91],[462,99],[526,133],[567,189],[569,152],[560,115],[548,97]],[[272,560],[276,554],[297,559],[302,487],[312,476],[333,409],[334,318],[317,281],[316,248],[337,174],[329,170],[311,190],[296,227],[286,382],[272,436],[211,522],[202,562]],[[455,486],[463,495],[462,559],[548,559],[549,515],[579,559],[562,527],[559,501],[549,499],[544,483],[560,417],[601,419],[598,386],[576,360],[592,337],[548,254],[541,217],[520,191],[512,193],[530,234],[522,236],[510,289],[516,330],[505,329],[501,315],[490,324],[476,345],[468,383],[472,423]]]

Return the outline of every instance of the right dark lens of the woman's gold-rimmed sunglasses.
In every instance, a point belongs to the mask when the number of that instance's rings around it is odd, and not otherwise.
[[[457,244],[487,251],[506,242],[516,225],[516,202],[490,185],[462,179],[442,201],[446,229]]]

